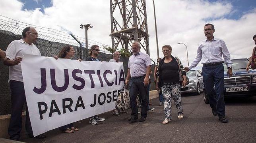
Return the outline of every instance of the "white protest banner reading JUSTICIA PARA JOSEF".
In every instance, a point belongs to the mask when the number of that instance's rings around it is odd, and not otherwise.
[[[22,76],[34,136],[115,108],[122,63],[25,55]]]

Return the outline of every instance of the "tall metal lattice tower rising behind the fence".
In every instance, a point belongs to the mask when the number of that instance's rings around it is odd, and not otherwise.
[[[112,48],[131,49],[140,42],[149,55],[146,0],[110,0]]]

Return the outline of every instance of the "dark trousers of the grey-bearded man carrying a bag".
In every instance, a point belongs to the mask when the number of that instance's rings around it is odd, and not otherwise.
[[[147,106],[148,106],[148,86],[144,85],[144,78],[131,78],[129,88],[130,88],[130,104],[132,109],[132,117],[138,119],[138,107],[136,102],[137,93],[140,93],[142,99],[142,117],[147,117]]]

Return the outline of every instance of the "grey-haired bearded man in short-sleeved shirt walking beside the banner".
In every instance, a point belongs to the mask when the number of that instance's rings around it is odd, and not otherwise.
[[[142,98],[142,111],[140,122],[144,122],[147,117],[148,106],[148,85],[149,74],[151,71],[151,61],[149,55],[140,51],[140,43],[135,41],[132,43],[132,55],[128,61],[128,72],[126,76],[125,84],[130,87],[130,104],[132,109],[130,122],[136,122],[138,119],[138,107],[137,107],[137,93],[140,93]]]

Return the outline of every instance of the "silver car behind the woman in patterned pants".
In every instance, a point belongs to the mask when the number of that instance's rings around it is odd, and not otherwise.
[[[197,95],[203,91],[203,76],[200,70],[190,70],[186,72],[186,76],[189,79],[189,84],[186,87],[180,89],[181,93],[196,93]]]

